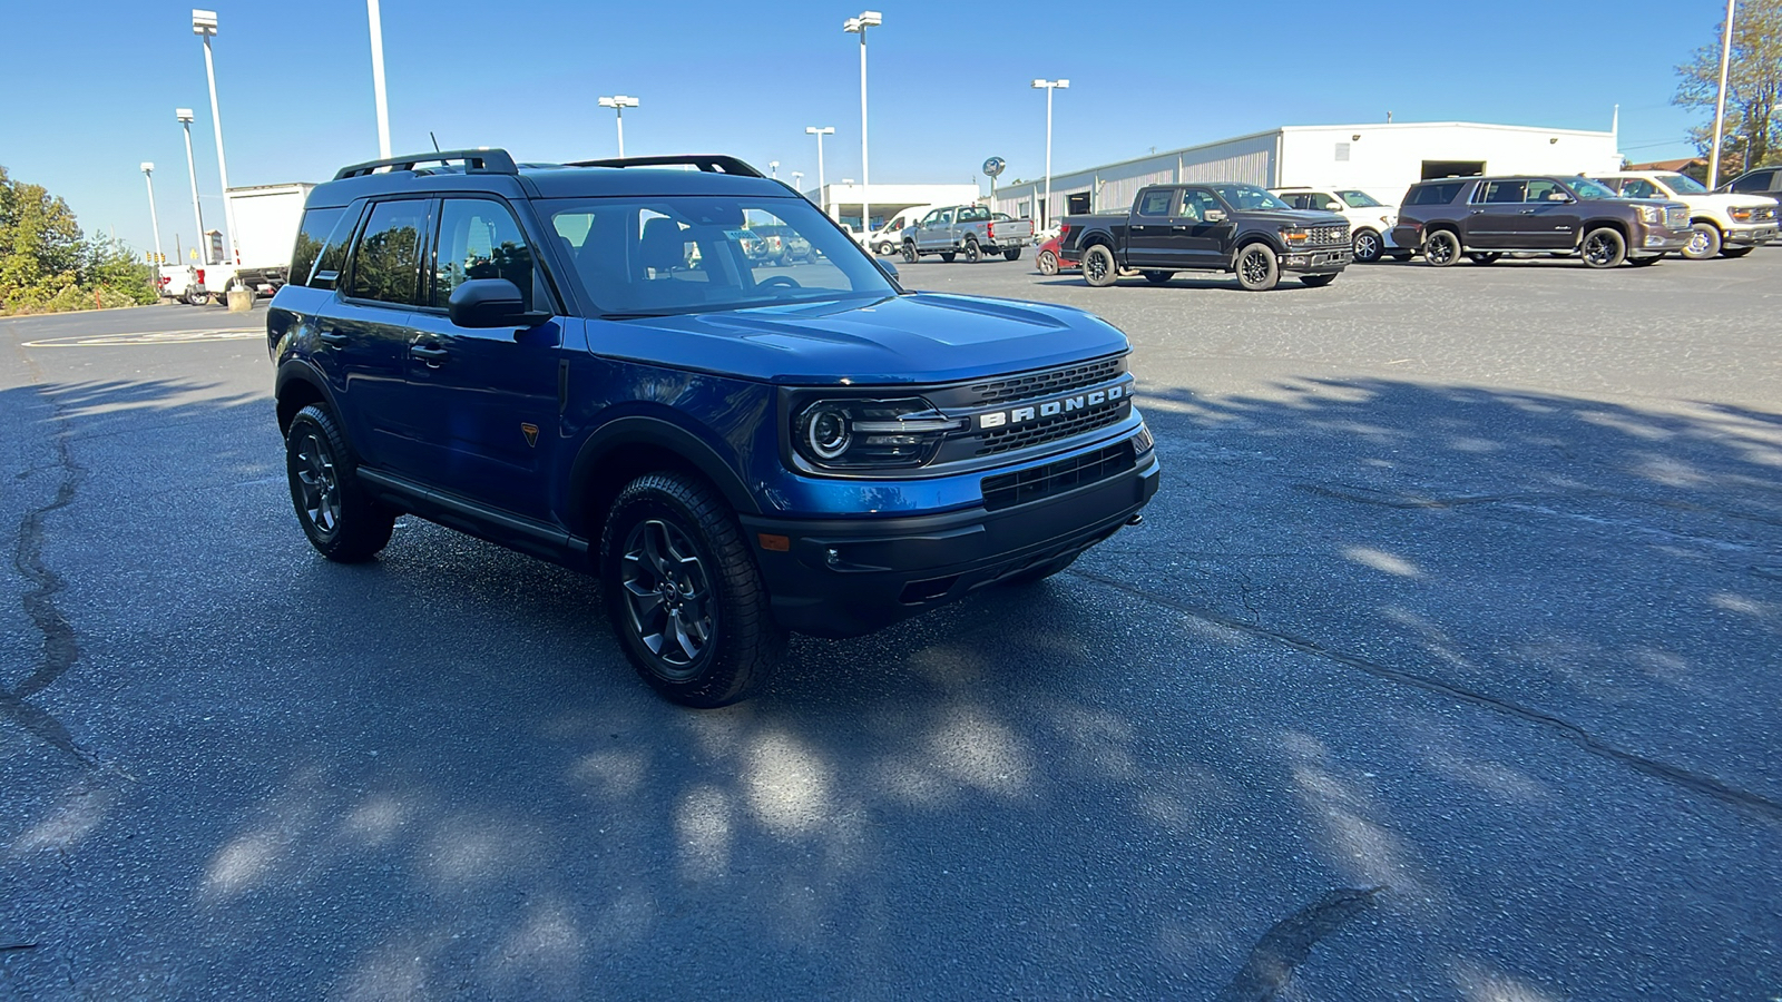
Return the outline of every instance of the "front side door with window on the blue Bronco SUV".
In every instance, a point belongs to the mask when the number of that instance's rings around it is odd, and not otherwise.
[[[556,312],[531,241],[494,198],[446,198],[431,255],[429,300],[406,346],[413,423],[428,481],[517,515],[545,519],[558,440],[560,321],[533,328],[463,328],[446,305],[470,278],[506,278],[527,308]]]

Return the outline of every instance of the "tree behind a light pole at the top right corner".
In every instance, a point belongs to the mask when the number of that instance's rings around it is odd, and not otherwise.
[[[1677,96],[1672,103],[1705,111],[1707,121],[1689,130],[1689,139],[1705,157],[1714,146],[1714,100],[1720,94],[1720,39],[1725,21],[1714,29],[1714,45],[1695,50],[1689,62],[1677,68]],[[1727,139],[1720,148],[1720,169],[1730,177],[1782,159],[1782,0],[1745,0],[1732,18],[1732,61],[1727,71]],[[1718,184],[1714,178],[1711,184]]]

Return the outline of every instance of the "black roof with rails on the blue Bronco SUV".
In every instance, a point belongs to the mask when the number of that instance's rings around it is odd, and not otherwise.
[[[310,193],[310,207],[372,194],[506,191],[520,198],[752,194],[798,198],[782,182],[722,155],[629,157],[570,164],[515,164],[506,150],[451,150],[340,168]]]

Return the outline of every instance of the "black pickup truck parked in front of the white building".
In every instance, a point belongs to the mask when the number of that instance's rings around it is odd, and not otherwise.
[[[1283,271],[1329,285],[1347,267],[1349,221],[1306,212],[1253,184],[1153,184],[1132,210],[1066,216],[1059,257],[1083,262],[1091,285],[1139,271],[1153,285],[1176,271],[1235,271],[1246,289],[1274,289]]]

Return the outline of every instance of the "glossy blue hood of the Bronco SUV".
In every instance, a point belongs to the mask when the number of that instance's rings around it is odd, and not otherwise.
[[[946,383],[1128,349],[1071,307],[914,292],[711,314],[588,321],[588,348],[675,369],[795,385]]]

